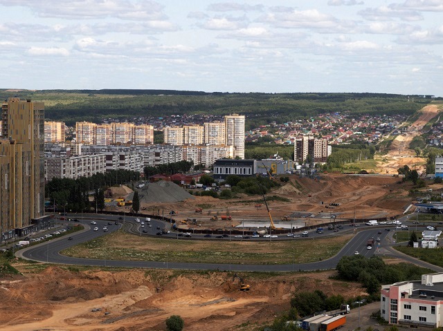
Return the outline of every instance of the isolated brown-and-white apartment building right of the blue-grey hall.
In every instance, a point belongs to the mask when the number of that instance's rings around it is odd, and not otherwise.
[[[303,135],[294,140],[293,149],[294,161],[298,163],[305,162],[307,155],[311,155],[314,162],[327,162],[328,147],[327,140],[316,139],[311,136]]]

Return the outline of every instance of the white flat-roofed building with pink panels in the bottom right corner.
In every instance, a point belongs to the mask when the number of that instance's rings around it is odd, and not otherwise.
[[[391,324],[443,326],[443,273],[381,287],[381,317]]]

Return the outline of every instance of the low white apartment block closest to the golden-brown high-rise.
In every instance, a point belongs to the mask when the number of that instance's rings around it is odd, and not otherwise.
[[[45,180],[53,178],[91,177],[96,173],[105,173],[106,155],[78,155],[71,157],[46,157]]]

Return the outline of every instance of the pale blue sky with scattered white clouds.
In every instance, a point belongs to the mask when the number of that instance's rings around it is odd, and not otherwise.
[[[443,96],[443,0],[0,0],[0,88]]]

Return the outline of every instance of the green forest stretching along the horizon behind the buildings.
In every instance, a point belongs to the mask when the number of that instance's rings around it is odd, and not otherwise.
[[[0,97],[18,96],[45,103],[46,120],[102,122],[103,118],[138,120],[170,115],[246,116],[246,129],[290,122],[321,113],[406,114],[428,104],[428,97],[381,93],[206,93],[165,90],[0,90]],[[410,96],[412,97],[412,96]]]

